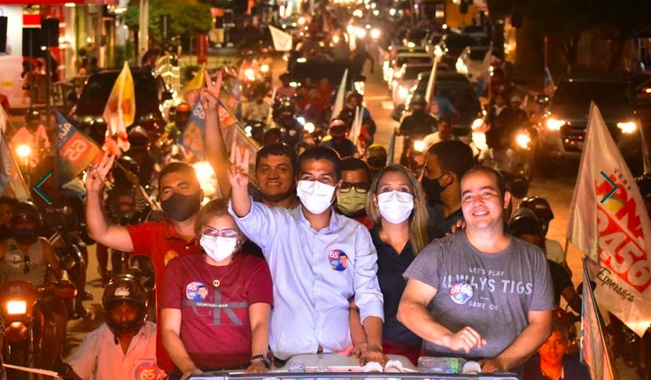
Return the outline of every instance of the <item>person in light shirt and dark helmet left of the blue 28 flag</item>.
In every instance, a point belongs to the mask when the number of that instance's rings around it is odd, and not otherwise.
[[[50,151],[50,139],[45,130],[45,125],[42,123],[41,112],[39,110],[27,110],[25,114],[25,125],[13,134],[10,148],[16,152],[16,149],[20,146],[29,147],[28,156],[31,167],[35,167],[38,164],[39,159],[37,157]]]

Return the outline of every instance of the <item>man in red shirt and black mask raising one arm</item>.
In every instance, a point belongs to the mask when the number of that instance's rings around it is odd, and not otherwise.
[[[105,154],[102,162],[94,164],[86,177],[89,235],[106,247],[149,256],[158,291],[163,286],[167,262],[179,255],[201,253],[201,247],[195,244],[194,224],[204,192],[199,186],[197,173],[190,165],[170,163],[159,175],[160,204],[167,220],[129,226],[110,224],[102,211],[101,202],[102,188],[114,158]],[[156,355],[159,368],[173,372],[174,363],[167,356],[160,340],[162,334],[158,332]]]

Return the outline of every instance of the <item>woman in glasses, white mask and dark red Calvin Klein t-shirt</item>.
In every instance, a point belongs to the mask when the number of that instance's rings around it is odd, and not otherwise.
[[[178,372],[266,372],[272,283],[267,262],[242,252],[244,235],[228,201],[208,202],[195,227],[204,255],[167,264],[161,303],[163,345]]]

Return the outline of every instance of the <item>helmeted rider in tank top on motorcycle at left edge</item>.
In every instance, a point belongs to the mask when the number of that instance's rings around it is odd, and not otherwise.
[[[42,224],[41,213],[31,201],[19,202],[13,209],[10,221],[12,238],[0,242],[0,278],[3,283],[12,280],[27,281],[36,288],[61,278],[54,248],[47,239],[39,236]],[[37,306],[43,323],[36,323],[35,346],[40,352],[43,344],[53,343],[54,346],[43,350],[50,357],[50,349],[60,352],[58,350],[66,341],[66,307],[62,300],[50,294],[45,295],[43,302]],[[50,336],[47,331],[55,326],[58,341],[42,340],[46,334]],[[44,356],[41,359],[43,363],[47,361]],[[54,357],[50,359],[53,360]]]

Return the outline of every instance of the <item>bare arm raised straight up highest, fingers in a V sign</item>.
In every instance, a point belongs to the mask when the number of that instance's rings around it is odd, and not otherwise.
[[[205,112],[205,156],[213,167],[221,196],[229,197],[229,153],[226,149],[224,136],[221,134],[219,117],[219,100],[221,90],[221,72],[217,74],[217,81],[213,84],[210,74],[204,72],[205,88],[199,93],[199,101]]]

